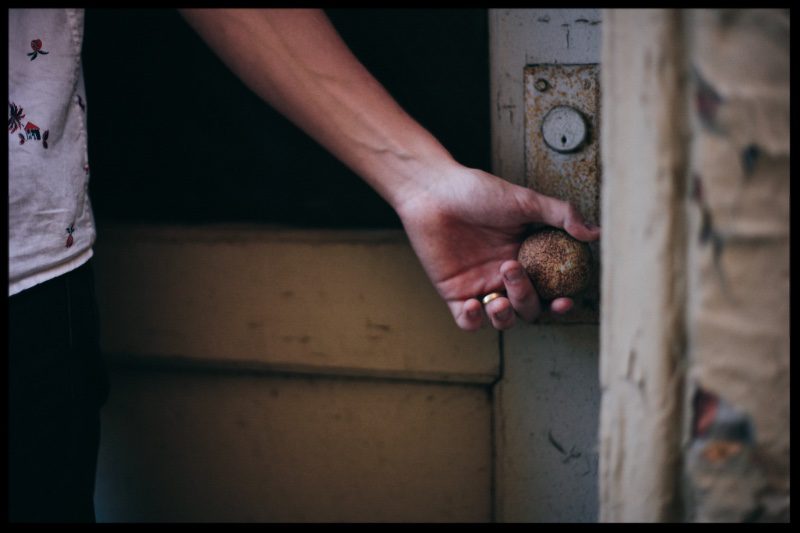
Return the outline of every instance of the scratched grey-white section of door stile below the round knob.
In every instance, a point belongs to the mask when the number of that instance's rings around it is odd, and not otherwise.
[[[527,326],[504,334],[495,391],[498,515],[512,522],[597,519],[597,328]],[[543,347],[549,347],[544,351]]]

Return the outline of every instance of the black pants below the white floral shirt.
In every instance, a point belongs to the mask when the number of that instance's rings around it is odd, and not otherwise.
[[[8,503],[11,522],[94,522],[100,408],[90,264],[9,297]]]

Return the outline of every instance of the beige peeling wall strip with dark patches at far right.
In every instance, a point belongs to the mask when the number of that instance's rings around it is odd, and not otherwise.
[[[687,518],[789,518],[789,14],[686,14]]]

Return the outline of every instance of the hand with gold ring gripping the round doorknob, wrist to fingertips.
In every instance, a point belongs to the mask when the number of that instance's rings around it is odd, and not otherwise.
[[[544,196],[480,170],[455,167],[433,177],[396,206],[422,266],[447,302],[456,324],[475,330],[488,321],[499,329],[514,325],[515,312],[526,322],[542,312],[539,296],[516,258],[531,223],[563,228],[581,241],[600,238],[569,203]],[[507,296],[486,305],[483,295]],[[569,298],[550,309],[565,313]]]

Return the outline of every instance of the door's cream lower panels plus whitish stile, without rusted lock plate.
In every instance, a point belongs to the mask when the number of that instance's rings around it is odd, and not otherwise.
[[[493,170],[529,184],[525,68],[599,63],[600,15],[489,24]],[[100,229],[101,521],[597,519],[596,309],[459,331],[395,230]]]

